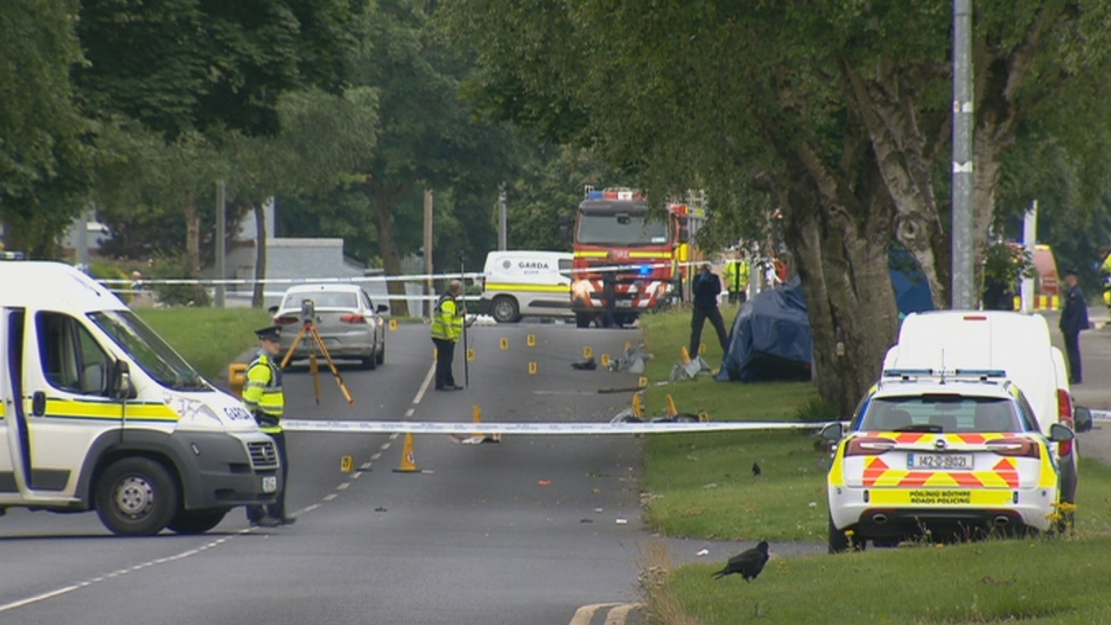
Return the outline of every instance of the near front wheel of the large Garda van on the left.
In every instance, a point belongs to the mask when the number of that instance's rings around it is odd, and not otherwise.
[[[113,462],[96,486],[97,515],[119,536],[152,536],[178,512],[178,484],[161,464],[146,457]]]

